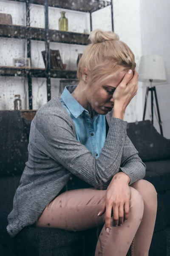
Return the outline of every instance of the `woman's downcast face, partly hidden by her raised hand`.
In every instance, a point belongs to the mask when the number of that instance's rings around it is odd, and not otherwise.
[[[98,114],[105,115],[113,109],[113,93],[126,73],[127,70],[123,70],[103,82],[97,81],[94,84],[87,84],[87,100]]]

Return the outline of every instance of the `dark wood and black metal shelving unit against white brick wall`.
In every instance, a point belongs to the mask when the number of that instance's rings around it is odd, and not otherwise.
[[[31,59],[31,40],[44,41],[46,50],[46,67],[0,67],[0,76],[25,76],[28,79],[28,100],[29,109],[32,109],[32,77],[46,78],[47,100],[51,99],[51,78],[59,79],[76,79],[77,71],[71,70],[52,70],[50,67],[50,42],[63,44],[78,44],[87,45],[88,36],[86,34],[75,32],[63,32],[59,30],[49,29],[48,26],[48,7],[56,7],[60,9],[68,9],[79,12],[90,13],[90,26],[92,26],[92,13],[111,6],[111,24],[113,28],[113,0],[77,0],[74,3],[72,0],[11,0],[26,3],[26,26],[4,25],[0,24],[0,37],[25,39],[27,41],[27,58]],[[40,29],[30,26],[30,4],[43,5],[45,10],[45,29]]]

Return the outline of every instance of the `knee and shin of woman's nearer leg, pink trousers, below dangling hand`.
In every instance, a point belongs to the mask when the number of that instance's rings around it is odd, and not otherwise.
[[[142,196],[130,187],[130,214],[122,227],[113,227],[113,218],[109,233],[105,231],[105,226],[100,233],[95,256],[126,256],[130,244],[142,221],[144,203]],[[135,255],[134,255],[135,256]]]

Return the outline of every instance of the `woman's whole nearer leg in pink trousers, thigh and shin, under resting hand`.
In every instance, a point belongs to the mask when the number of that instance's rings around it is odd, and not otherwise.
[[[95,256],[126,256],[139,228],[144,204],[141,195],[130,187],[130,216],[122,227],[113,227],[109,233],[103,227]],[[98,217],[106,190],[77,189],[62,193],[42,212],[37,227],[56,227],[71,231],[87,230],[105,223],[105,214]]]

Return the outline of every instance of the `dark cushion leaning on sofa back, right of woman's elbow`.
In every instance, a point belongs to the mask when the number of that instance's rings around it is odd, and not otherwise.
[[[142,161],[170,158],[170,140],[161,136],[150,120],[128,123],[127,135]]]

